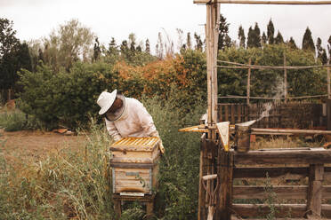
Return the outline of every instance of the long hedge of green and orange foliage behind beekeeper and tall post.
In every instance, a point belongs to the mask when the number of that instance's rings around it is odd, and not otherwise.
[[[262,66],[316,65],[311,52],[293,50],[284,44],[264,45],[263,48],[226,48],[219,52],[219,60]],[[228,64],[219,63],[226,66]],[[287,90],[292,97],[326,93],[326,69],[287,70]],[[36,73],[23,70],[20,74],[23,92],[21,110],[34,115],[52,129],[59,124],[69,128],[84,126],[90,115],[98,112],[96,99],[102,90],[118,89],[125,96],[152,98],[158,95],[168,99],[169,90],[178,90],[177,106],[189,110],[198,99],[206,100],[206,54],[198,50],[182,51],[146,66],[130,66],[124,61],[115,66],[99,61],[93,64],[76,63],[70,72],[52,71],[40,66]],[[220,96],[246,96],[247,69],[218,69]],[[325,86],[322,86],[325,85]],[[253,69],[251,96],[282,97],[283,69]],[[224,102],[229,101],[221,100]],[[232,100],[237,101],[237,100]]]

